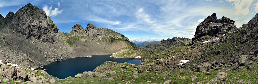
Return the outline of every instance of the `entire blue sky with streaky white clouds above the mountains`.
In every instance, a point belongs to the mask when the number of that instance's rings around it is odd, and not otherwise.
[[[43,9],[60,32],[73,25],[109,28],[130,41],[192,39],[196,26],[214,12],[235,20],[237,28],[258,12],[257,0],[0,0],[0,14],[17,12],[32,3]]]

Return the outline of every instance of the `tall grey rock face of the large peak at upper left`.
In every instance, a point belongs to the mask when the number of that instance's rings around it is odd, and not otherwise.
[[[30,3],[19,9],[15,14],[9,12],[6,19],[15,33],[21,33],[26,38],[41,39],[46,43],[54,43],[57,37],[61,37],[60,31],[46,13]]]

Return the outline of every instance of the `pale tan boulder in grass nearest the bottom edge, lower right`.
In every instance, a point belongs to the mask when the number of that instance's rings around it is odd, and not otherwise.
[[[211,79],[208,84],[214,84],[216,83],[216,81],[225,81],[225,79],[227,78],[227,73],[225,72],[219,72],[215,78]]]

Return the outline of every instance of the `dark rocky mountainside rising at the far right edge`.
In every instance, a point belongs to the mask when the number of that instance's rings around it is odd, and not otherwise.
[[[241,44],[245,43],[249,39],[258,39],[258,13],[253,17],[252,20],[241,27],[241,34]]]

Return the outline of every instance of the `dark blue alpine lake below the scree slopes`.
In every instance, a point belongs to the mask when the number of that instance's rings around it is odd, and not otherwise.
[[[135,65],[139,65],[142,62],[138,59],[132,58],[113,58],[109,57],[110,55],[94,55],[91,58],[86,57],[78,57],[71,58],[67,60],[53,62],[46,66],[43,66],[43,69],[46,69],[46,72],[49,75],[53,75],[54,77],[64,79],[69,76],[74,77],[74,75],[78,73],[83,73],[85,71],[93,71],[97,66],[103,64],[106,61],[113,61],[118,63],[132,63]],[[38,68],[42,69],[42,68]]]

